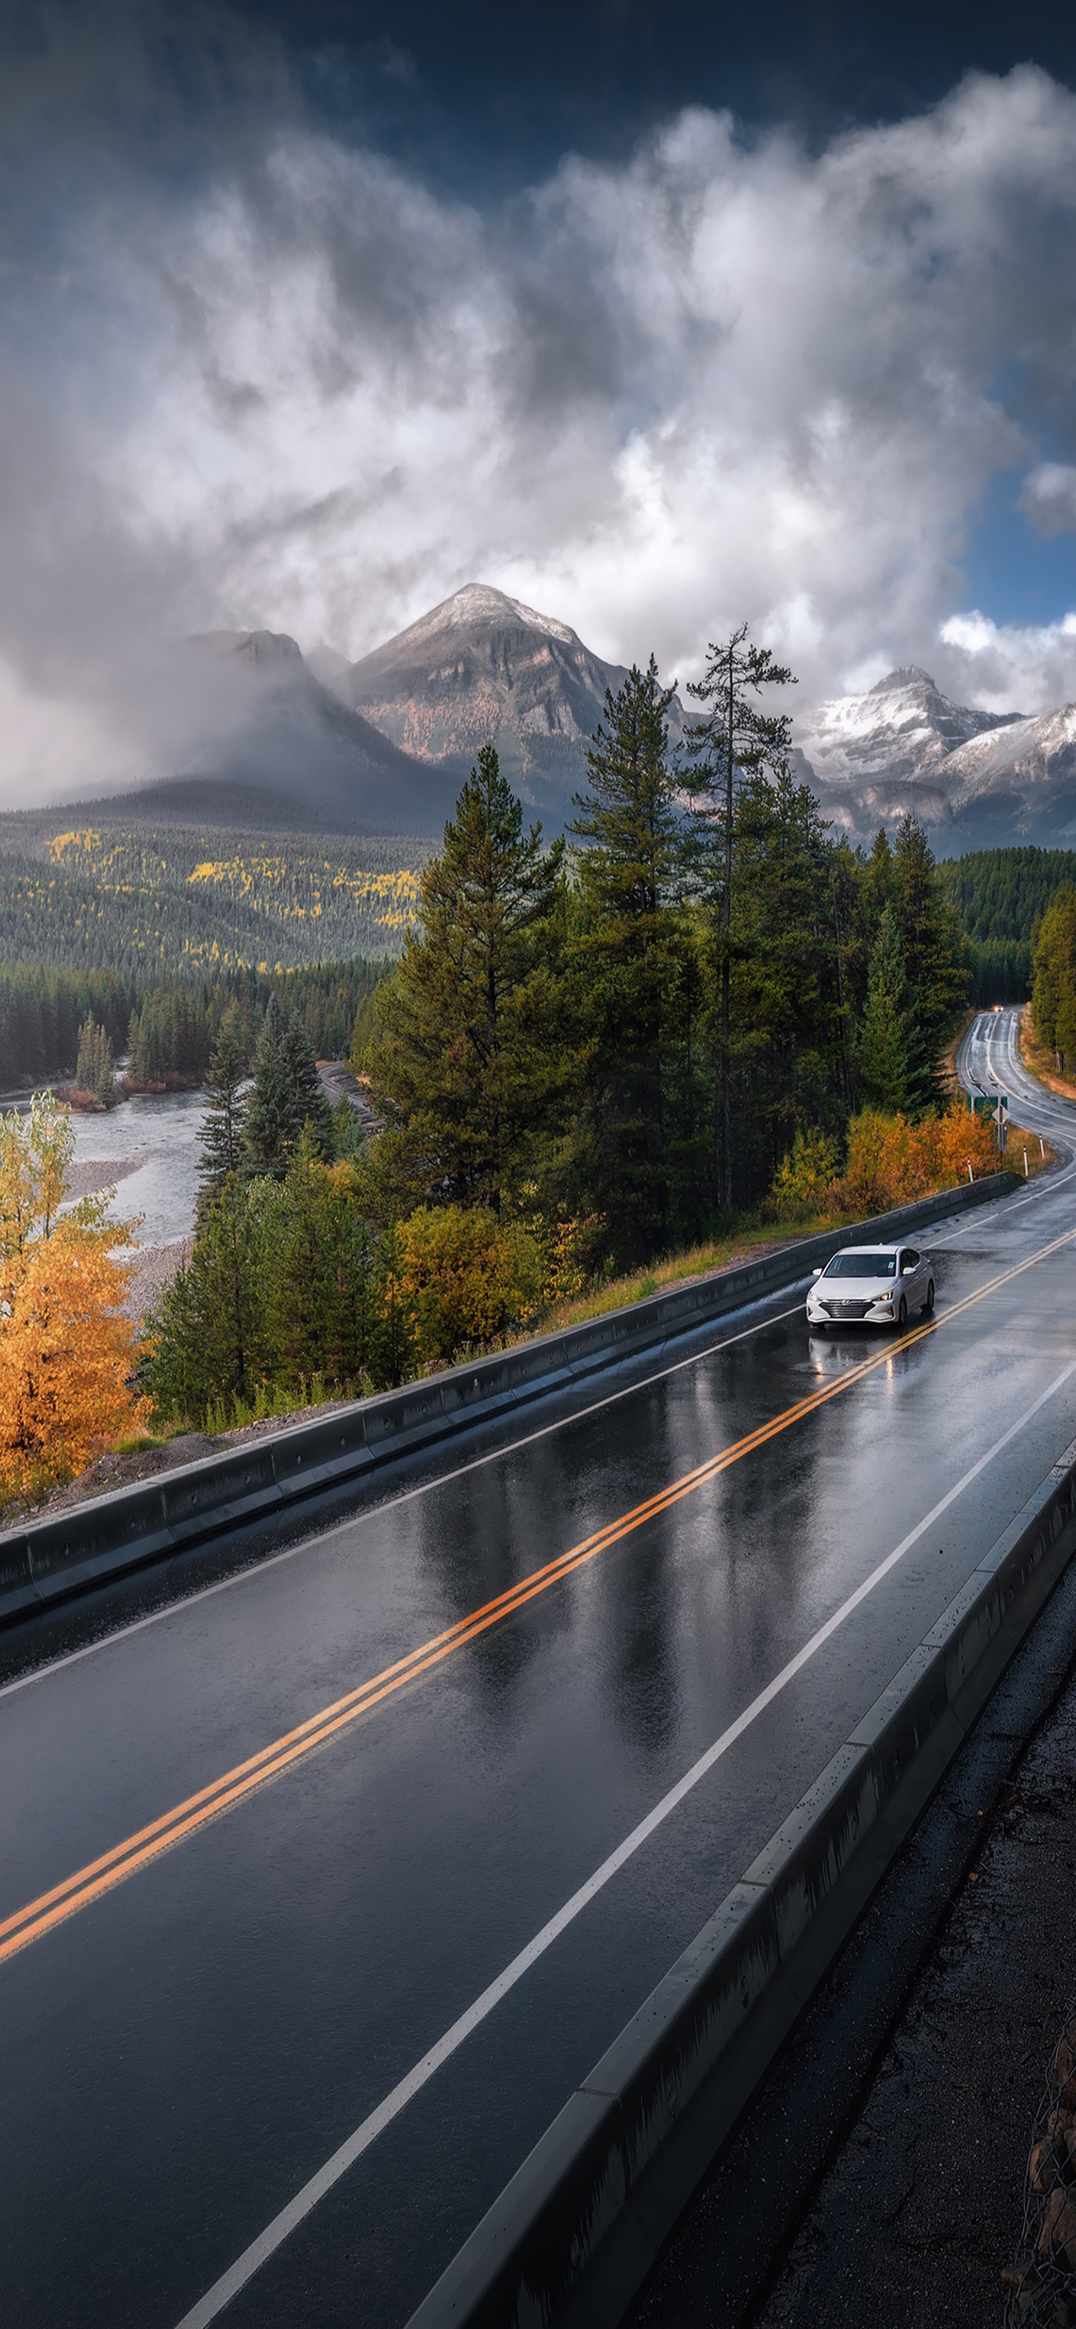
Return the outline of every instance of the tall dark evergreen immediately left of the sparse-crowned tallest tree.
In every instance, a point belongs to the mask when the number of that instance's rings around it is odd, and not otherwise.
[[[675,985],[680,815],[668,771],[668,706],[654,657],[606,694],[606,724],[575,794],[580,971],[589,1022],[585,1174],[620,1260],[668,1237],[664,1048]]]

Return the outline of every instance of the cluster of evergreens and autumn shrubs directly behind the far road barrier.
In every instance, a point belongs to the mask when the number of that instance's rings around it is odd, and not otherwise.
[[[347,1102],[326,1118],[279,1013],[249,1083],[221,1027],[198,1237],[149,1321],[158,1414],[403,1381],[745,1206],[862,1218],[992,1169],[941,1092],[967,962],[927,838],[827,836],[743,638],[703,696],[694,813],[654,664],[608,703],[573,855],[482,748],[356,1046],[377,1139]]]

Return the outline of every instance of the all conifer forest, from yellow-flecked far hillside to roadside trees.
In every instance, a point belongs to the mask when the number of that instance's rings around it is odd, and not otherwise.
[[[852,845],[792,773],[787,678],[745,629],[713,647],[675,759],[633,668],[552,836],[494,748],[429,845],[0,820],[0,1081],[205,1088],[193,1253],[133,1374],[156,1428],[396,1383],[736,1223],[992,1167],[941,1055],[1034,981],[1076,1057],[1076,857],[936,864],[911,815]]]

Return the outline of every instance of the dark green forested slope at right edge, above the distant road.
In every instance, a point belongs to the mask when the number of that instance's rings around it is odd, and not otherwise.
[[[1076,880],[1076,850],[974,850],[939,871],[971,941],[971,1001],[1027,1001],[1034,927]]]

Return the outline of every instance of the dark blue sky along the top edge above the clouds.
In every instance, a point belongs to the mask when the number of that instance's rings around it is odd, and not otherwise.
[[[622,156],[682,105],[731,107],[743,123],[787,121],[817,144],[897,121],[943,98],[969,70],[1043,65],[1076,82],[1076,9],[1029,5],[897,7],[680,5],[652,0],[256,0],[303,61],[307,93],[438,177],[505,189],[566,149]]]

